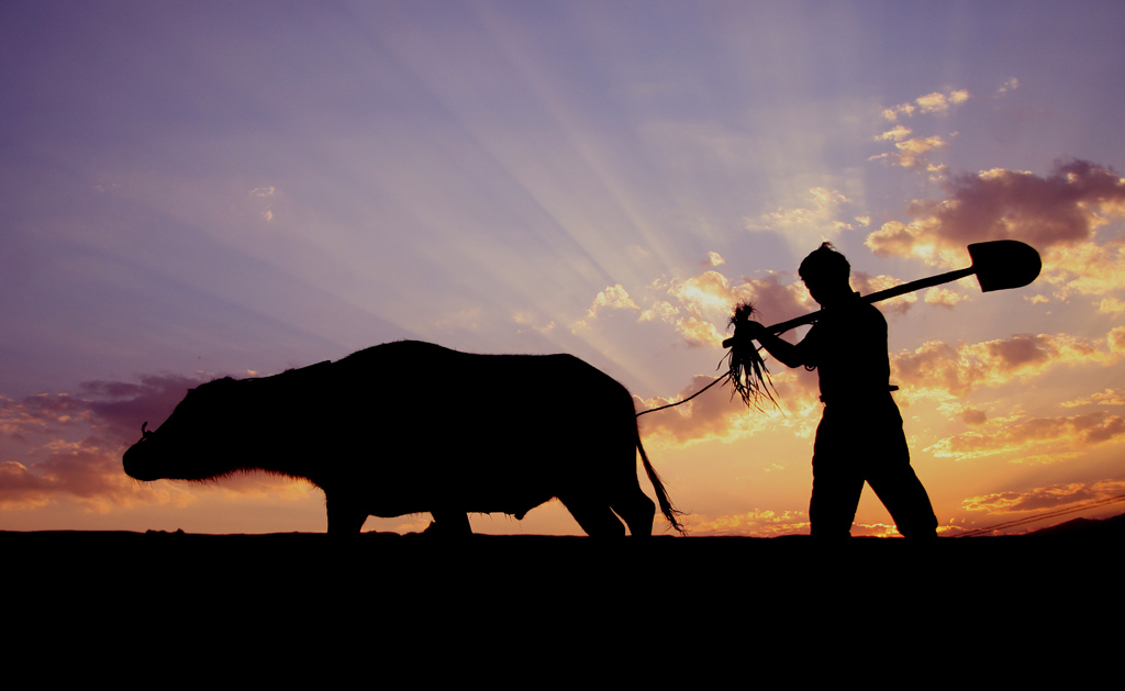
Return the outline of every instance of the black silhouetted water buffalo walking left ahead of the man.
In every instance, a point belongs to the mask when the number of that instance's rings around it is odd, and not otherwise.
[[[469,533],[467,512],[522,519],[558,497],[591,536],[652,530],[637,452],[660,510],[676,511],[640,442],[632,397],[568,355],[483,356],[432,343],[375,346],[272,377],[188,392],[123,458],[141,481],[261,469],[324,491],[330,533],[368,515],[430,512]],[[614,515],[614,512],[616,515]]]

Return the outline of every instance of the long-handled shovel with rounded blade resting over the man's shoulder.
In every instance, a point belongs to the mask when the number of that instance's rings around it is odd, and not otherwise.
[[[1043,263],[1040,261],[1040,253],[1030,245],[1018,240],[993,240],[991,242],[978,242],[969,245],[969,257],[973,260],[973,266],[968,269],[957,269],[947,273],[939,273],[930,278],[922,278],[901,286],[894,286],[886,290],[864,295],[860,299],[865,303],[878,303],[891,297],[898,297],[922,288],[947,284],[965,276],[976,275],[976,282],[981,285],[981,291],[1007,290],[1008,288],[1022,288],[1040,275]],[[820,318],[824,309],[810,312],[803,316],[766,326],[766,330],[774,335],[784,333],[790,329],[796,329],[804,324],[811,324]],[[735,339],[727,339],[722,342],[723,348],[730,348]]]

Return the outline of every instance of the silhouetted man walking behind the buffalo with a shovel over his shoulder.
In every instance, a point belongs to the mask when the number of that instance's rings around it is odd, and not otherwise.
[[[818,370],[825,410],[812,450],[812,535],[850,536],[866,482],[899,532],[936,537],[937,518],[910,467],[902,418],[891,397],[898,387],[888,385],[886,320],[852,290],[852,267],[830,243],[806,257],[799,272],[825,308],[804,340],[794,346],[757,322],[747,322],[746,336],[788,367]]]

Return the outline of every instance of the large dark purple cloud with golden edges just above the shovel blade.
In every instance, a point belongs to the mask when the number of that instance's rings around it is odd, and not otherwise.
[[[945,187],[947,198],[914,203],[916,221],[884,223],[866,245],[883,257],[955,266],[970,243],[1011,239],[1043,252],[1091,240],[1104,216],[1125,216],[1125,180],[1087,161],[1056,164],[1046,178],[992,169]]]

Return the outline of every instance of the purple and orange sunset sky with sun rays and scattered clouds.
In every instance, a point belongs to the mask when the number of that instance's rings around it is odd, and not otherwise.
[[[880,304],[912,465],[944,535],[1118,513],[1123,30],[1120,2],[2,3],[0,529],[324,530],[307,483],[122,454],[200,383],[399,339],[674,402],[737,302],[816,307],[822,241],[861,293],[1036,248],[1025,288]],[[808,532],[816,373],[767,366],[780,410],[640,419],[690,535]],[[435,429],[471,405],[429,385]],[[360,433],[370,463],[471,454]],[[558,502],[471,523],[582,533]],[[853,533],[896,535],[870,488]]]

